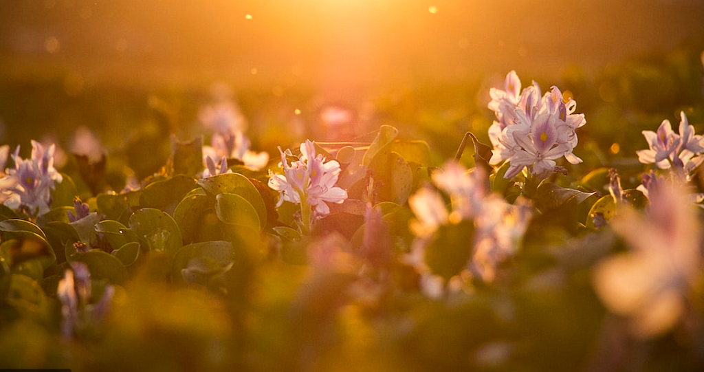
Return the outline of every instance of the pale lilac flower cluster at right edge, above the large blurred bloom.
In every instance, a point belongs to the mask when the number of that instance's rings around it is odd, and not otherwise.
[[[679,134],[672,130],[670,120],[662,120],[657,132],[643,130],[648,141],[647,150],[636,151],[643,164],[655,164],[660,169],[672,169],[689,179],[691,173],[704,161],[704,137],[694,134],[689,120],[680,113]]]

